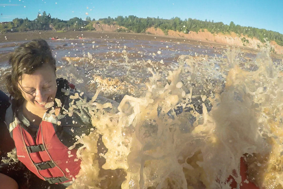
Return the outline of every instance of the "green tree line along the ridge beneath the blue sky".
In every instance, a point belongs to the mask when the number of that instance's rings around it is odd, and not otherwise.
[[[38,13],[37,18],[29,20],[28,18],[21,19],[15,18],[12,22],[1,22],[0,33],[10,32],[25,32],[25,31],[37,31],[37,30],[55,30],[55,31],[92,31],[95,30],[93,24],[117,24],[123,26],[134,33],[145,33],[147,28],[155,27],[160,28],[165,34],[169,30],[180,31],[183,33],[189,33],[191,31],[199,32],[207,31],[211,33],[231,33],[234,32],[238,35],[246,35],[250,38],[257,38],[261,42],[265,42],[265,39],[271,41],[274,40],[280,46],[283,46],[283,34],[275,31],[268,31],[266,29],[259,29],[250,26],[240,26],[230,22],[230,24],[224,24],[223,22],[201,21],[197,19],[185,19],[182,20],[179,17],[173,17],[171,19],[157,18],[139,18],[133,15],[130,16],[117,16],[116,18],[100,18],[97,21],[86,17],[85,20],[74,17],[69,20],[61,20],[58,18],[51,18],[50,14],[46,14],[44,11],[42,14]],[[126,29],[119,28],[118,32],[126,32]],[[242,38],[243,42],[248,42],[246,38]]]

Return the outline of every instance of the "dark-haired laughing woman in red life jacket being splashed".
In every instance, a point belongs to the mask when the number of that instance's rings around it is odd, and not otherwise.
[[[67,187],[80,171],[76,151],[82,145],[71,150],[68,147],[74,145],[76,135],[88,135],[93,130],[89,112],[77,106],[71,117],[66,114],[73,101],[70,96],[75,95],[74,85],[56,79],[55,59],[45,40],[22,44],[9,63],[12,71],[6,78],[6,87],[12,104],[5,121],[15,141],[17,157],[40,179]],[[75,105],[79,99],[74,100]]]

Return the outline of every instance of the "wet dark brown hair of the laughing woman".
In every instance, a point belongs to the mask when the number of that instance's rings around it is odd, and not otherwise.
[[[18,87],[23,74],[33,74],[35,70],[45,64],[54,67],[55,72],[55,63],[50,47],[45,40],[36,39],[20,45],[9,58],[12,70],[11,74],[6,77],[7,91],[16,100],[23,101],[24,97]]]

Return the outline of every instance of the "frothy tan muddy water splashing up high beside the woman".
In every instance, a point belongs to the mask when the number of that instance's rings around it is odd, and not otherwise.
[[[230,175],[241,182],[242,156],[250,181],[282,187],[282,60],[274,62],[267,46],[248,60],[227,49],[169,64],[160,58],[166,45],[150,55],[116,45],[101,59],[87,49],[61,56],[57,76],[80,89],[72,98],[92,97],[76,106],[89,109],[96,127],[76,137],[81,170],[68,188],[228,189]],[[119,106],[94,102],[98,94]]]

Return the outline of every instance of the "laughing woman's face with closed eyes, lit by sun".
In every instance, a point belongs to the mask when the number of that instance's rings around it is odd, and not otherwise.
[[[39,111],[47,110],[46,103],[54,102],[57,91],[54,68],[44,64],[33,74],[23,74],[18,87],[26,100],[26,106]]]

